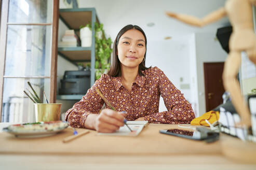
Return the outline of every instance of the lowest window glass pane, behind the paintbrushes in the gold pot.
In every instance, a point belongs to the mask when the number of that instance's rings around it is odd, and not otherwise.
[[[35,108],[33,102],[26,96],[23,90],[31,92],[28,81],[36,91],[41,101],[45,102],[44,91],[49,100],[50,79],[24,79],[5,78],[2,104],[2,122],[35,122]]]

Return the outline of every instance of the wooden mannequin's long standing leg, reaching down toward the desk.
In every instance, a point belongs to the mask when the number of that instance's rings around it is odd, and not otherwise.
[[[239,82],[236,78],[241,65],[241,52],[231,51],[224,64],[223,85],[230,92],[231,101],[241,117],[241,124],[251,126],[250,111],[241,94]]]

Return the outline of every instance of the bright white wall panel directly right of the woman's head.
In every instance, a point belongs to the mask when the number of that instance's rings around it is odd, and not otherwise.
[[[169,40],[153,40],[147,44],[146,66],[157,66],[169,80],[191,101],[190,89],[181,89],[181,84],[190,84],[190,36]],[[181,78],[183,79],[181,81]],[[188,85],[189,86],[189,85]],[[159,111],[166,111],[163,98],[160,98]]]

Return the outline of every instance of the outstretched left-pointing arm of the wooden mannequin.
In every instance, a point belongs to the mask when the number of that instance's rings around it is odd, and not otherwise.
[[[184,14],[176,14],[176,13],[173,13],[173,12],[166,12],[166,14],[169,17],[175,18],[175,19],[180,20],[184,23],[202,27],[202,26],[205,26],[209,23],[212,23],[214,21],[217,21],[217,20],[225,17],[226,16],[226,11],[225,11],[225,8],[222,7],[220,9],[210,13],[209,15],[204,17],[203,19],[198,19],[196,17],[188,16],[188,15],[184,15]]]

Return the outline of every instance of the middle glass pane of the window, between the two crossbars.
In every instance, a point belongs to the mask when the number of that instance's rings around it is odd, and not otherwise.
[[[50,76],[51,25],[8,25],[5,76]]]

